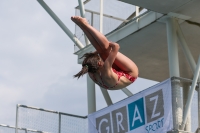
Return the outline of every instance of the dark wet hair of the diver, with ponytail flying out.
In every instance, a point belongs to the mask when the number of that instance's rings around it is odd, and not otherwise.
[[[98,61],[100,61],[100,57],[97,53],[86,53],[81,58],[84,58],[82,62],[82,69],[74,75],[74,78],[77,77],[79,79],[80,76],[83,76],[87,72],[96,73],[98,71]]]

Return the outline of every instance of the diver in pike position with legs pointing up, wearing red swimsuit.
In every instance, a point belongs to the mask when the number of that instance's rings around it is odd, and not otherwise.
[[[83,30],[96,49],[93,53],[83,55],[82,70],[74,77],[79,78],[88,73],[95,83],[109,90],[125,88],[137,79],[136,64],[119,52],[119,44],[108,41],[85,18],[73,16],[71,19]]]

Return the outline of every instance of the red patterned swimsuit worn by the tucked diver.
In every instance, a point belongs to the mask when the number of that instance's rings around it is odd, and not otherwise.
[[[101,78],[101,82],[97,81],[96,78],[94,77],[94,80],[96,81],[97,84],[99,84],[100,86],[103,86],[105,89],[109,89],[109,88],[114,88],[115,86],[117,86],[118,82],[119,82],[119,79],[121,78],[121,76],[124,76],[126,77],[127,79],[129,79],[132,83],[137,79],[133,76],[131,76],[130,74],[126,73],[126,72],[123,72],[123,71],[117,71],[115,70],[114,68],[112,68],[113,72],[117,74],[118,76],[118,81],[117,83],[112,86],[112,87],[108,87],[104,84],[103,80],[102,80],[102,77],[101,77],[101,74],[100,74],[100,78]]]

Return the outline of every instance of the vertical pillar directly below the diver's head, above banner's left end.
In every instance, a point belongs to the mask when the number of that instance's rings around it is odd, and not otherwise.
[[[96,94],[95,83],[87,74],[87,98],[88,98],[88,114],[96,111]]]

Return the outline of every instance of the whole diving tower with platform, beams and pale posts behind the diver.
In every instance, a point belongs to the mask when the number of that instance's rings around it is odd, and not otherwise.
[[[75,51],[75,54],[78,56],[78,63],[81,64],[82,60],[79,58],[86,52],[94,51],[94,47],[89,44],[86,37],[86,45],[82,45],[77,37],[73,36],[43,0],[37,1],[79,48],[79,50]],[[196,89],[198,79],[197,73],[199,73],[199,70],[196,69],[198,68],[196,64],[200,54],[200,1],[120,0],[137,6],[133,14],[127,19],[103,14],[103,0],[97,3],[101,5],[100,12],[84,9],[85,3],[95,0],[87,0],[84,3],[82,0],[78,1],[80,15],[82,17],[86,17],[86,10],[92,14],[91,20],[93,20],[93,14],[99,15],[100,32],[102,32],[103,16],[123,21],[116,29],[106,33],[106,37],[110,41],[119,43],[120,52],[137,64],[139,67],[139,77],[155,81],[163,81],[170,77],[183,77],[184,79],[193,79],[193,77],[195,77],[191,89],[190,84],[181,84],[180,78],[172,82],[174,127],[172,132],[190,132],[190,127],[187,125],[185,127],[185,124],[186,121],[191,120],[191,118],[188,117],[188,112],[193,92]],[[147,9],[147,11],[139,15],[139,11],[142,9]],[[119,10],[119,8],[117,10]],[[91,22],[91,24],[92,23],[93,22]],[[87,77],[87,89],[88,113],[90,114],[96,111],[96,98],[95,84],[89,77]],[[112,100],[107,90],[102,88],[101,90],[107,105],[111,105]],[[122,89],[122,91],[128,96],[132,95],[126,88]],[[198,90],[198,95],[200,101],[200,88]],[[200,104],[198,112],[200,116]],[[198,127],[200,128],[200,122]],[[184,130],[185,128],[186,130]]]

